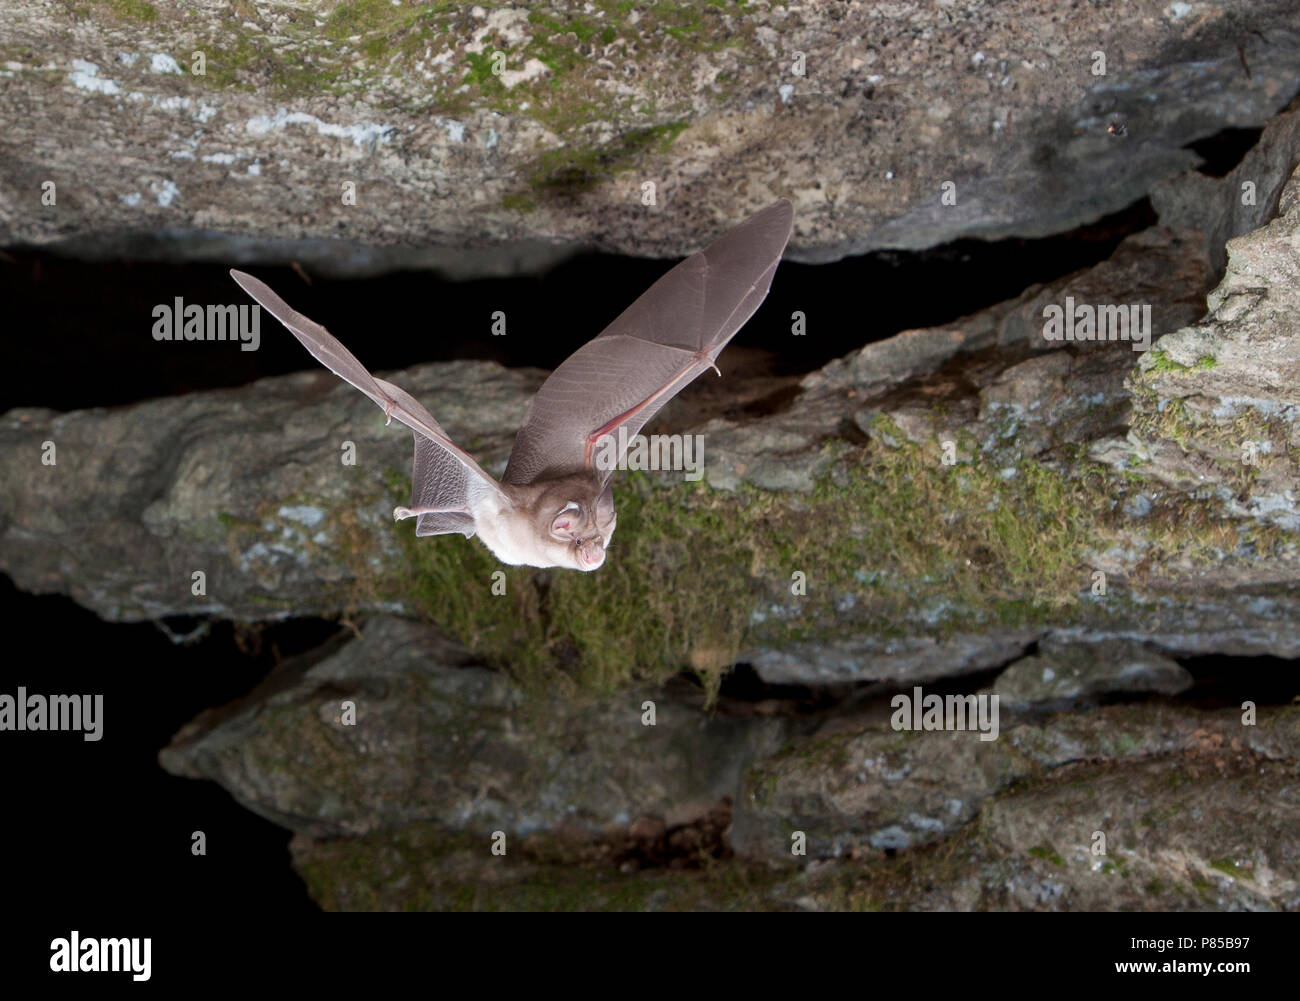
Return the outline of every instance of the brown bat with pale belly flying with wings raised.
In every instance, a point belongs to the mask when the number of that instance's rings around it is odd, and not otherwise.
[[[619,451],[614,464],[598,463],[597,450],[625,450],[664,403],[706,369],[718,372],[718,355],[767,296],[793,225],[790,203],[772,203],[677,264],[569,355],[529,403],[500,482],[324,326],[257,278],[238,270],[230,277],[312,358],[374,400],[390,424],[395,417],[412,430],[411,507],[393,516],[416,519],[416,536],[459,532],[478,536],[502,563],[594,571],[618,521],[610,480],[623,458]]]

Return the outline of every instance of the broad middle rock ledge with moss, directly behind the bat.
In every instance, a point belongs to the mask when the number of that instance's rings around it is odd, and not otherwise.
[[[1274,146],[1294,133],[1294,114],[1271,125],[1221,195],[1243,172],[1278,188]],[[620,477],[620,550],[595,575],[507,568],[497,595],[476,541],[394,526],[410,439],[326,372],[9,412],[0,568],[120,620],[424,614],[489,662],[577,664],[606,689],[684,664],[716,681],[737,660],[770,682],[931,680],[1040,641],[1296,656],[1297,192],[1292,177],[1277,217],[1228,243],[1204,318],[1205,230],[1154,226],[1101,265],[833,361],[767,416],[706,419],[706,484]],[[1045,339],[1045,309],[1070,300],[1150,307],[1152,350]],[[393,378],[499,473],[542,374]],[[666,426],[692,430],[682,406]]]

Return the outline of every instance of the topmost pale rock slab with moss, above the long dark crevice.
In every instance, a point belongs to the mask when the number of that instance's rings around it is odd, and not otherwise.
[[[780,195],[796,260],[1043,235],[1297,68],[1287,0],[16,0],[0,243],[488,274],[681,255]]]

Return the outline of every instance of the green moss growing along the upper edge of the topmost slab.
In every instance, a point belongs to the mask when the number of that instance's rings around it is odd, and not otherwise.
[[[159,8],[146,0],[96,3],[121,20],[159,18]],[[485,32],[488,22],[473,17],[468,5],[442,0],[403,0],[399,5],[390,0],[344,0],[325,14],[324,25],[316,23],[315,10],[290,6],[266,31],[246,27],[246,21],[260,22],[261,14],[247,0],[235,0],[217,36],[178,44],[172,55],[188,65],[195,46],[204,51],[208,70],[187,81],[194,87],[280,96],[364,94],[377,107],[391,104],[433,114],[490,108],[536,118],[572,148],[590,147],[586,130],[593,122],[603,121],[616,133],[634,133],[656,127],[656,120],[694,110],[693,101],[679,94],[676,81],[659,81],[653,73],[638,79],[634,95],[611,91],[608,82],[621,78],[621,73],[597,65],[606,48],[612,47],[610,55],[620,62],[630,57],[653,65],[681,65],[694,52],[722,47],[737,47],[751,64],[766,58],[753,55],[759,49],[750,44],[754,23],[744,4],[642,4],[636,8],[636,23],[630,21],[633,6],[602,1],[592,13],[532,10],[524,25],[526,35],[507,40],[500,32]],[[484,51],[467,52],[465,44],[476,38]],[[623,43],[627,48],[620,52]],[[508,53],[511,69],[536,58],[551,73],[506,88],[490,73],[490,56],[497,49]],[[460,73],[430,73],[430,52],[446,51],[454,53]],[[416,70],[420,64],[425,64],[422,72]],[[420,81],[419,87],[407,86],[412,78]],[[712,90],[722,94],[737,83],[714,83]]]

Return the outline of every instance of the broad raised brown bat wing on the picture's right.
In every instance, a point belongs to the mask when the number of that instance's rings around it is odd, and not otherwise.
[[[606,436],[637,434],[758,309],[794,225],[781,199],[664,274],[542,384],[502,477],[529,484],[597,468]],[[614,450],[604,458],[621,458]],[[601,472],[608,482],[612,464]]]

